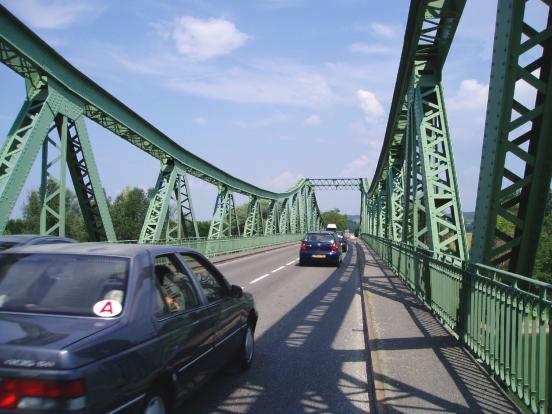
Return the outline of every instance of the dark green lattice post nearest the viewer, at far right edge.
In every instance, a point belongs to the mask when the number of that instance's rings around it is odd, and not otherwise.
[[[547,16],[538,29],[526,12]],[[531,277],[552,174],[552,6],[504,0],[495,30],[471,260]],[[524,98],[524,95],[531,98]],[[498,228],[499,218],[513,228]],[[508,227],[508,226],[507,226]]]

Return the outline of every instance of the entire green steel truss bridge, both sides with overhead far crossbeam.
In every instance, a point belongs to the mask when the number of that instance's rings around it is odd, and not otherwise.
[[[116,240],[85,118],[159,160],[140,242],[199,240],[189,175],[218,188],[207,241],[243,240],[235,249],[259,245],[250,240],[298,240],[324,224],[315,190],[358,190],[362,238],[523,410],[551,413],[552,286],[530,277],[552,174],[552,2],[498,2],[471,248],[442,89],[465,2],[411,1],[374,177],[305,178],[283,193],[246,183],[180,147],[0,6],[0,59],[25,79],[27,92],[0,150],[0,232],[40,154],[41,232],[64,234],[62,201],[71,179],[89,239]],[[530,3],[545,10],[544,28],[530,21]],[[522,87],[533,93],[530,106],[516,99]],[[59,184],[53,191],[50,179]],[[250,200],[243,234],[232,233],[236,193]],[[504,232],[499,221],[513,230]]]

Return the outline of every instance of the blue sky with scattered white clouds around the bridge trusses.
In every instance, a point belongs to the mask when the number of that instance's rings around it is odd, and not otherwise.
[[[406,0],[0,0],[64,58],[186,150],[280,192],[372,178],[398,71]],[[443,85],[464,211],[475,209],[496,0],[468,1]],[[23,79],[0,65],[0,135]],[[107,194],[155,185],[156,159],[87,122]],[[3,140],[3,138],[0,138]],[[40,158],[40,157],[38,157]],[[39,160],[13,216],[40,182]],[[201,220],[217,190],[190,179]],[[359,214],[356,191],[317,191]],[[236,196],[236,203],[247,202]]]

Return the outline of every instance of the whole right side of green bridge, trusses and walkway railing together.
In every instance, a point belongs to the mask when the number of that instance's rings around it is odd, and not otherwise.
[[[383,149],[360,185],[362,237],[520,406],[550,413],[552,286],[524,276],[552,175],[552,5],[498,2],[468,257],[442,85],[464,4],[411,2]]]

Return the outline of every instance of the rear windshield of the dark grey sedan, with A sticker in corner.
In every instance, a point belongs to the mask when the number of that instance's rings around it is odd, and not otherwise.
[[[103,300],[124,304],[128,267],[119,257],[0,254],[0,311],[96,316]]]

